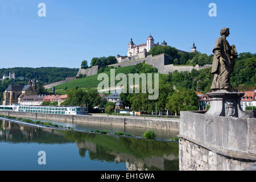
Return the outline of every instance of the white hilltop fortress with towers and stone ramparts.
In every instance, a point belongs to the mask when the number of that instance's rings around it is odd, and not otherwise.
[[[153,46],[167,46],[167,43],[163,41],[160,45],[159,42],[156,44],[154,43],[154,38],[151,36],[148,36],[146,43],[135,45],[133,43],[133,39],[130,40],[128,44],[128,51],[127,51],[127,56],[120,56],[117,55],[117,64],[111,64],[108,65],[113,66],[115,68],[117,67],[127,67],[130,65],[136,65],[139,63],[145,63],[152,65],[155,68],[158,68],[158,73],[162,74],[168,74],[169,72],[174,72],[177,70],[178,72],[182,71],[189,71],[191,72],[192,69],[204,69],[204,68],[209,68],[212,65],[204,65],[203,67],[200,67],[199,65],[196,65],[195,67],[190,66],[190,65],[174,65],[174,58],[171,56],[164,55],[164,53],[156,56],[152,55],[147,55],[148,51]],[[181,51],[177,50],[179,52],[186,52],[186,51]],[[196,46],[195,43],[193,43],[193,47],[190,52],[195,52],[196,51]],[[79,72],[77,73],[77,77],[79,77],[80,74],[86,75],[86,76],[92,76],[96,75],[98,73],[98,69],[100,69],[100,66],[96,65],[93,66],[92,68],[88,69],[79,69]]]

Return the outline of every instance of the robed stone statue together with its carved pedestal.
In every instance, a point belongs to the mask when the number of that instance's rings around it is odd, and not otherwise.
[[[250,118],[241,108],[241,97],[230,85],[230,73],[234,69],[234,59],[237,58],[236,46],[229,46],[226,37],[229,36],[229,28],[221,29],[221,37],[217,39],[213,48],[212,73],[214,78],[211,89],[207,93],[210,100],[210,108],[206,114],[228,118]]]

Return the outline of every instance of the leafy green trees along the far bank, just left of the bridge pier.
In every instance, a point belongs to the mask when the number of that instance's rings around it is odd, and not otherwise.
[[[159,97],[148,100],[148,93],[121,93],[120,98],[125,106],[133,111],[155,113],[168,109],[170,113],[179,114],[183,110],[197,110],[199,98],[195,91],[187,88],[173,88],[170,82],[160,80]]]

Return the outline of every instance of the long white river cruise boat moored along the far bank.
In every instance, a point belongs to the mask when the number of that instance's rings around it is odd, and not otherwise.
[[[18,111],[25,113],[48,113],[48,114],[68,114],[68,115],[85,115],[88,114],[88,110],[85,107],[80,106],[20,106],[11,105],[5,106],[0,105],[2,111]]]

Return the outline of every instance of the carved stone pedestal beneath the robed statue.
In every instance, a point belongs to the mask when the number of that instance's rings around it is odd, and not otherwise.
[[[217,90],[207,94],[210,100],[210,108],[206,114],[233,117],[250,118],[241,108],[241,97],[244,93]]]

